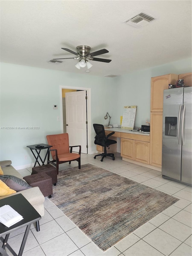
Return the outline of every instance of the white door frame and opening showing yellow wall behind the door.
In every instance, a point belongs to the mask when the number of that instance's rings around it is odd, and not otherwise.
[[[77,92],[77,91],[86,91],[86,98],[87,98],[87,106],[86,106],[86,115],[87,115],[87,153],[91,154],[91,88],[85,88],[85,87],[76,87],[76,86],[61,86],[61,130],[65,133],[68,130],[68,133],[70,133],[69,129],[66,129],[66,99],[65,99],[65,93],[66,92]],[[71,130],[72,131],[72,130]],[[73,134],[69,134],[69,137],[73,137],[73,143],[76,143],[74,141]],[[72,143],[72,144],[73,144]],[[76,145],[79,145],[76,143]],[[86,153],[85,152],[85,153]]]

